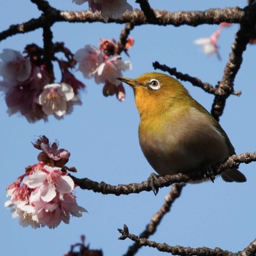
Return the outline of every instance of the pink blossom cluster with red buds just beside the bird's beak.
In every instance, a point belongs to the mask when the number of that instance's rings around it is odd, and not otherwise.
[[[103,94],[105,96],[116,94],[120,101],[125,99],[124,86],[119,78],[122,71],[132,69],[130,61],[123,61],[118,55],[118,46],[116,41],[109,39],[100,39],[99,48],[94,45],[86,45],[79,49],[74,59],[78,62],[78,69],[83,73],[85,78],[94,78],[96,83],[105,83]],[[132,47],[134,39],[127,39],[124,52]]]

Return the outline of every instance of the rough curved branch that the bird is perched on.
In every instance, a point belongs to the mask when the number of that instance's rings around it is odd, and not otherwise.
[[[233,155],[229,157],[225,163],[223,163],[216,170],[213,170],[213,175],[217,176],[221,174],[223,171],[227,170],[231,167],[237,167],[241,163],[249,164],[249,162],[256,161],[256,152],[255,153],[244,153],[240,155]],[[188,182],[190,180],[200,180],[205,179],[203,172],[201,170],[197,170],[193,173],[189,173],[189,175],[178,173],[176,175],[167,175],[167,176],[158,176],[156,177],[157,181],[154,184],[154,188],[151,187],[150,182],[143,181],[140,184],[132,183],[132,184],[120,184],[117,186],[113,186],[110,184],[106,184],[105,182],[97,182],[91,181],[89,178],[75,178],[74,176],[70,177],[75,181],[81,189],[93,190],[94,192],[99,192],[104,195],[113,194],[113,195],[129,195],[132,193],[140,193],[142,191],[152,191],[153,189],[159,189],[162,187],[169,187],[173,183],[183,183]]]

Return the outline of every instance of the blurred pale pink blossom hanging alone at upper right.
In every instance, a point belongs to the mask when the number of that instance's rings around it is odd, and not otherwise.
[[[219,55],[219,46],[217,45],[219,35],[222,33],[223,29],[226,27],[232,26],[230,23],[222,22],[219,25],[219,29],[215,31],[213,34],[211,34],[210,37],[203,37],[200,39],[195,40],[196,45],[201,45],[203,53],[206,53],[206,55],[212,55],[217,54],[218,59],[220,58]]]

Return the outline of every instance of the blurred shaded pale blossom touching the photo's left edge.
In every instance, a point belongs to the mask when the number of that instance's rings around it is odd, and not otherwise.
[[[31,63],[17,50],[4,49],[0,54],[0,75],[4,80],[23,82],[31,74]]]

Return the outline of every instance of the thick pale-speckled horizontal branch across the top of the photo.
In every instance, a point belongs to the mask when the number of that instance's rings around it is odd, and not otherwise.
[[[133,23],[135,26],[144,24],[154,24],[160,26],[198,26],[202,24],[219,24],[223,21],[228,23],[241,23],[244,18],[244,10],[238,8],[225,8],[225,9],[209,9],[205,12],[192,11],[192,12],[167,12],[154,10],[157,15],[157,20],[149,21],[146,19],[143,11],[134,10],[132,12],[124,12],[121,18],[109,18],[108,23]],[[68,22],[94,22],[102,20],[100,15],[90,11],[85,12],[60,12],[61,17],[59,21]]]

